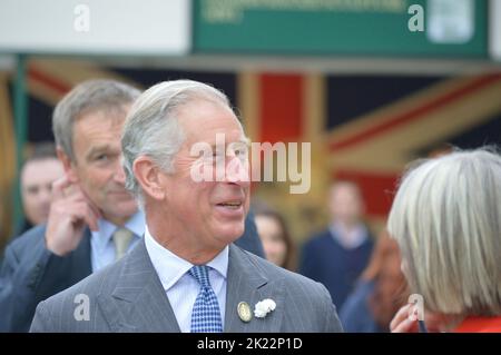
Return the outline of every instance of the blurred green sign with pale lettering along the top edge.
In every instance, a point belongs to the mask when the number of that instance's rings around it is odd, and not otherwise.
[[[195,0],[194,51],[487,58],[484,0]]]

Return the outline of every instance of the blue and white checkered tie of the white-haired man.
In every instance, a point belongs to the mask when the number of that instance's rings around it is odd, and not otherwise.
[[[200,284],[200,290],[193,306],[191,333],[223,333],[219,304],[210,287],[208,269],[206,265],[195,265],[188,272]]]

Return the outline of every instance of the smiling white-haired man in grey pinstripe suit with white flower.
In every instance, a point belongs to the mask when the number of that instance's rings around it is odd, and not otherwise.
[[[31,331],[342,331],[324,286],[234,244],[249,203],[246,141],[228,99],[210,86],[167,81],[143,93],[121,144],[127,187],[146,215],[144,240],[42,302]],[[79,295],[90,322],[75,317]]]

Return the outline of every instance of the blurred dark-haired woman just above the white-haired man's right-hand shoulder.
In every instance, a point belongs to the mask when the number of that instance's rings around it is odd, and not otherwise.
[[[265,204],[254,205],[257,234],[266,258],[288,270],[295,270],[295,246],[284,217]]]

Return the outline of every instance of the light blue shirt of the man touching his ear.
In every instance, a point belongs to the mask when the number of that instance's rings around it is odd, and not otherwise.
[[[115,262],[115,244],[111,236],[118,228],[106,219],[98,220],[98,231],[91,231],[90,236],[90,259],[92,263],[92,272],[96,273]],[[124,225],[125,228],[134,233],[127,253],[130,252],[141,240],[145,233],[145,215],[137,211]]]

